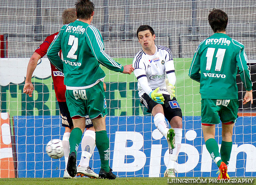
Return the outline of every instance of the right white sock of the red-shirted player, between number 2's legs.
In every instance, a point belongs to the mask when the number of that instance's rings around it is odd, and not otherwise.
[[[81,145],[82,145],[82,155],[81,155],[81,160],[79,162],[79,165],[82,166],[83,168],[86,168],[89,166],[89,160],[96,146],[95,131],[86,130],[84,132]]]

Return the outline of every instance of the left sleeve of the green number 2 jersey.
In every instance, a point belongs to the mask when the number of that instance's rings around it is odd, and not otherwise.
[[[64,25],[63,27],[65,26],[67,25]],[[61,36],[63,34],[63,27],[60,29],[60,32],[57,35],[57,37],[50,44],[47,51],[47,57],[50,60],[50,63],[52,63],[58,70],[62,72],[63,72],[63,60],[60,59],[60,56],[58,53],[61,50]]]

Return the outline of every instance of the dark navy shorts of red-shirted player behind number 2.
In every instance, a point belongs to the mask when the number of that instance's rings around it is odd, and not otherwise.
[[[60,117],[61,117],[61,125],[64,127],[68,127],[72,129],[74,127],[72,118],[70,117],[67,102],[58,102],[60,107]],[[89,119],[89,115],[86,116],[85,127],[90,128],[93,126],[93,123]]]

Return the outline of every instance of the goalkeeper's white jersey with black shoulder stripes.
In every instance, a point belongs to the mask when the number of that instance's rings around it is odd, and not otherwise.
[[[133,59],[134,74],[137,79],[142,76],[147,77],[148,85],[152,90],[159,88],[159,93],[169,94],[166,90],[166,74],[174,72],[172,51],[164,46],[155,45],[154,55],[147,55],[142,49]],[[144,90],[138,82],[139,97],[144,94]]]

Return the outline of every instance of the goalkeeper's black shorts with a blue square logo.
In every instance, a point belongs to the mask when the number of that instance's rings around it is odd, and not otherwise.
[[[174,97],[172,100],[170,99],[170,95],[163,94],[165,98],[164,104],[160,104],[163,106],[163,113],[165,114],[165,118],[170,122],[171,119],[175,116],[182,118],[182,111],[180,105],[177,102],[177,99]],[[152,113],[153,108],[159,103],[153,101],[146,93],[144,93],[140,97],[140,103],[147,107],[147,112]]]

